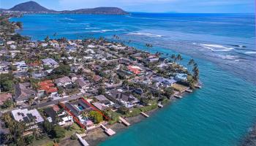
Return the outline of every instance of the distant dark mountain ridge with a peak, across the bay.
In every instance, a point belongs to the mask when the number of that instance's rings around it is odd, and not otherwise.
[[[56,11],[53,9],[47,9],[42,7],[35,1],[28,1],[21,4],[17,4],[14,7],[8,9],[10,11],[19,12],[52,12],[52,13],[68,13],[68,14],[97,14],[97,15],[127,15],[123,9],[118,7],[96,7],[91,9],[75,9],[75,10],[63,10]]]

